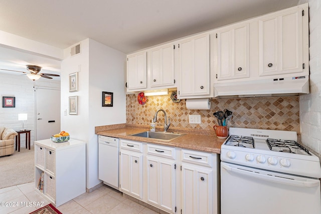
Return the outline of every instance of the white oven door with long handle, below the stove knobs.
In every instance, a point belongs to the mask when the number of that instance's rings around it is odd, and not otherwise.
[[[221,162],[221,213],[321,213],[320,181]]]

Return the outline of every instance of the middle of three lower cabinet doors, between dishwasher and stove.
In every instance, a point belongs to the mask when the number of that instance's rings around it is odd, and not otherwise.
[[[175,212],[175,162],[146,157],[147,200]]]

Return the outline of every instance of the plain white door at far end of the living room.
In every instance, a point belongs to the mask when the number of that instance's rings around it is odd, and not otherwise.
[[[60,90],[36,88],[36,140],[60,132]]]

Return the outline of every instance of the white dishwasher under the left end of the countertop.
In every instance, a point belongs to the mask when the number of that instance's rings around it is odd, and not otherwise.
[[[119,190],[119,139],[98,135],[98,178]]]

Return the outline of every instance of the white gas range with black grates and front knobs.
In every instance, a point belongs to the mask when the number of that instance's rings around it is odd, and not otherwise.
[[[319,158],[296,132],[231,127],[221,161],[223,214],[321,213]]]

